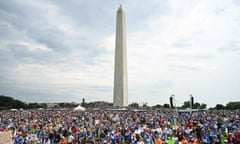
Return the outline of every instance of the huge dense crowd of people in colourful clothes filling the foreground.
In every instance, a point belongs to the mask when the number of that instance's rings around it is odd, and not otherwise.
[[[240,112],[0,111],[14,144],[240,144]]]

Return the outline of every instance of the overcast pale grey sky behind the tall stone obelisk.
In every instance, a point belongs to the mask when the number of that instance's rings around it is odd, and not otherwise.
[[[0,94],[112,102],[120,4],[129,104],[240,101],[240,0],[1,0]]]

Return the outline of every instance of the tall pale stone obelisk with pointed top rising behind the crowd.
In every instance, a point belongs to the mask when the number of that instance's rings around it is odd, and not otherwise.
[[[128,75],[125,13],[117,10],[113,106],[128,106]]]

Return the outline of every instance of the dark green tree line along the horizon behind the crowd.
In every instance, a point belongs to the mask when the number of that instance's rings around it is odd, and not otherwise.
[[[54,108],[73,108],[76,107],[78,104],[76,103],[56,103],[54,105]],[[85,102],[83,101],[82,106],[86,108],[94,108],[95,103],[94,102]],[[142,106],[140,106],[137,102],[133,102],[129,104],[129,108],[144,108],[144,109],[170,109],[170,104],[157,104],[155,106],[148,106],[147,103],[144,103]],[[178,109],[186,109],[190,107],[190,101],[185,101],[182,106],[177,107]],[[10,96],[4,96],[0,95],[0,110],[8,110],[8,109],[37,109],[37,108],[48,108],[48,105],[46,103],[25,103],[20,100],[14,99]],[[193,109],[205,109],[207,108],[207,104],[204,103],[193,103],[192,106]],[[217,109],[217,110],[240,110],[240,101],[236,102],[228,102],[226,105],[223,104],[217,104],[215,107],[210,109]]]

